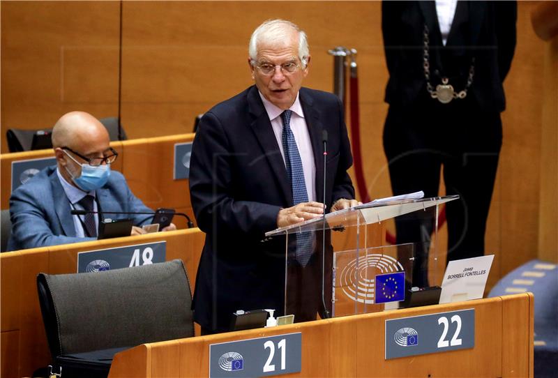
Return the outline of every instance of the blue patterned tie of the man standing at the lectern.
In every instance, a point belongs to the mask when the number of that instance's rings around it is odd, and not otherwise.
[[[291,114],[291,110],[285,110],[281,114],[281,119],[283,120],[282,144],[283,153],[285,153],[287,176],[292,187],[293,204],[296,205],[301,202],[308,202],[308,192],[306,192],[306,183],[304,183],[301,156],[290,127]],[[311,255],[312,232],[299,232],[296,234],[296,260],[302,266],[306,266]]]

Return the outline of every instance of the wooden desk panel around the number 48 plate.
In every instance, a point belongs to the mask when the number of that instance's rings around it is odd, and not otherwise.
[[[10,357],[2,358],[0,376],[31,376],[34,370],[50,362],[43,317],[38,303],[38,273],[75,273],[78,252],[166,241],[167,260],[182,259],[188,273],[190,289],[193,291],[204,238],[204,233],[197,228],[179,229],[2,253],[1,350],[2,357],[8,354]]]

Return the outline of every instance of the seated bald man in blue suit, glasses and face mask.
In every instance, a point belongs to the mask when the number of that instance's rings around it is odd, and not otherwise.
[[[10,197],[12,234],[8,250],[97,239],[99,218],[133,219],[132,235],[144,234],[151,215],[88,213],[72,210],[151,212],[135,197],[120,172],[110,165],[118,154],[110,147],[105,126],[91,114],[64,114],[52,129],[56,165],[39,172]],[[163,231],[176,229],[171,223]]]

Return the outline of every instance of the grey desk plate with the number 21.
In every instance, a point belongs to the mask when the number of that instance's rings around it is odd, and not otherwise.
[[[209,377],[269,377],[300,372],[302,334],[209,345]]]

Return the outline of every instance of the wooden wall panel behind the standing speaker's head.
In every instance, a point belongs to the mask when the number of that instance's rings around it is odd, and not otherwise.
[[[355,13],[363,17],[348,17]],[[252,84],[248,40],[270,17],[294,20],[308,32],[312,61],[306,85],[331,91],[327,50],[342,44],[375,51],[372,61],[379,68],[363,72],[384,76],[379,82],[385,82],[381,36],[370,38],[379,36],[379,3],[274,3],[271,10],[263,1],[126,2],[122,116],[124,125],[133,125],[130,136],[184,133],[195,115]],[[368,60],[363,56],[363,63]],[[366,75],[363,80],[368,82]]]

